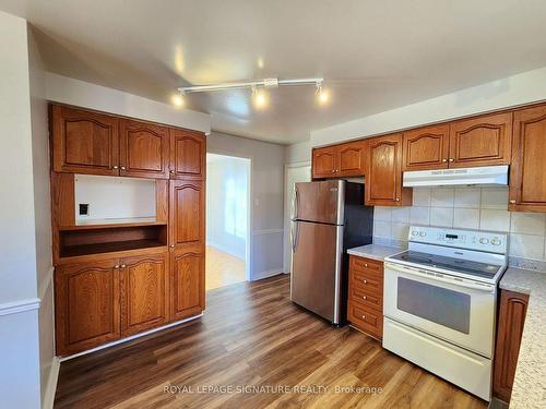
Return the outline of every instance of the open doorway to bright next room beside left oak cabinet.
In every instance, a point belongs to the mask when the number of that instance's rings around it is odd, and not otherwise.
[[[206,291],[249,279],[250,159],[206,154]]]

